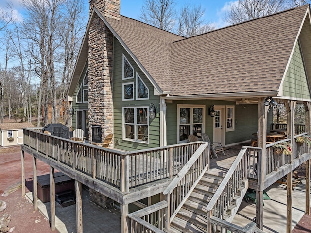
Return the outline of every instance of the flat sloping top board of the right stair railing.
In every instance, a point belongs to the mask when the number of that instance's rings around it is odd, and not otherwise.
[[[214,193],[213,197],[210,199],[210,201],[207,204],[207,211],[211,211],[217,200],[219,199],[219,197],[221,196],[221,194],[223,193],[226,184],[229,182],[230,178],[232,177],[233,172],[235,171],[235,169],[238,167],[238,165],[240,164],[240,161],[243,159],[245,152],[247,149],[242,148],[238,154],[238,156],[236,157],[236,159],[233,161],[231,167],[229,168],[227,174],[225,175],[225,178],[222,180],[221,184],[219,185],[218,189],[216,190],[216,192]],[[246,174],[244,174],[245,176]]]

